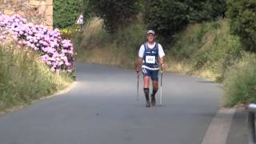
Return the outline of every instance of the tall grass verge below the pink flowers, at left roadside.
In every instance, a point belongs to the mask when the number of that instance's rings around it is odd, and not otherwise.
[[[15,44],[0,46],[0,111],[26,105],[70,86],[67,74],[54,74],[38,54]]]

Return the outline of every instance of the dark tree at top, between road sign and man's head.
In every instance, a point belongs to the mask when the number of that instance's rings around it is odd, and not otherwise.
[[[90,0],[91,11],[104,20],[104,28],[118,33],[132,22],[139,12],[139,0]]]

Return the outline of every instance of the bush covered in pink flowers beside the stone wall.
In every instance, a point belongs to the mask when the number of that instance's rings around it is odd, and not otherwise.
[[[74,47],[70,40],[62,39],[60,30],[26,22],[18,14],[9,17],[0,13],[0,42],[10,36],[19,46],[38,52],[52,71],[73,71]]]

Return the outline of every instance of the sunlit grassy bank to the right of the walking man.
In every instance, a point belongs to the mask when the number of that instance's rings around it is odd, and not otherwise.
[[[197,74],[222,82],[227,67],[241,58],[242,46],[230,35],[226,20],[204,22],[187,26],[175,35],[166,59],[184,63],[186,74]],[[170,61],[171,61],[170,60]],[[174,69],[174,68],[173,68]]]

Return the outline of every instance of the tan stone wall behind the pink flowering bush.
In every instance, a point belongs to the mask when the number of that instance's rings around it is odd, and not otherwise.
[[[29,22],[53,29],[53,0],[0,0],[0,12],[20,14]]]

